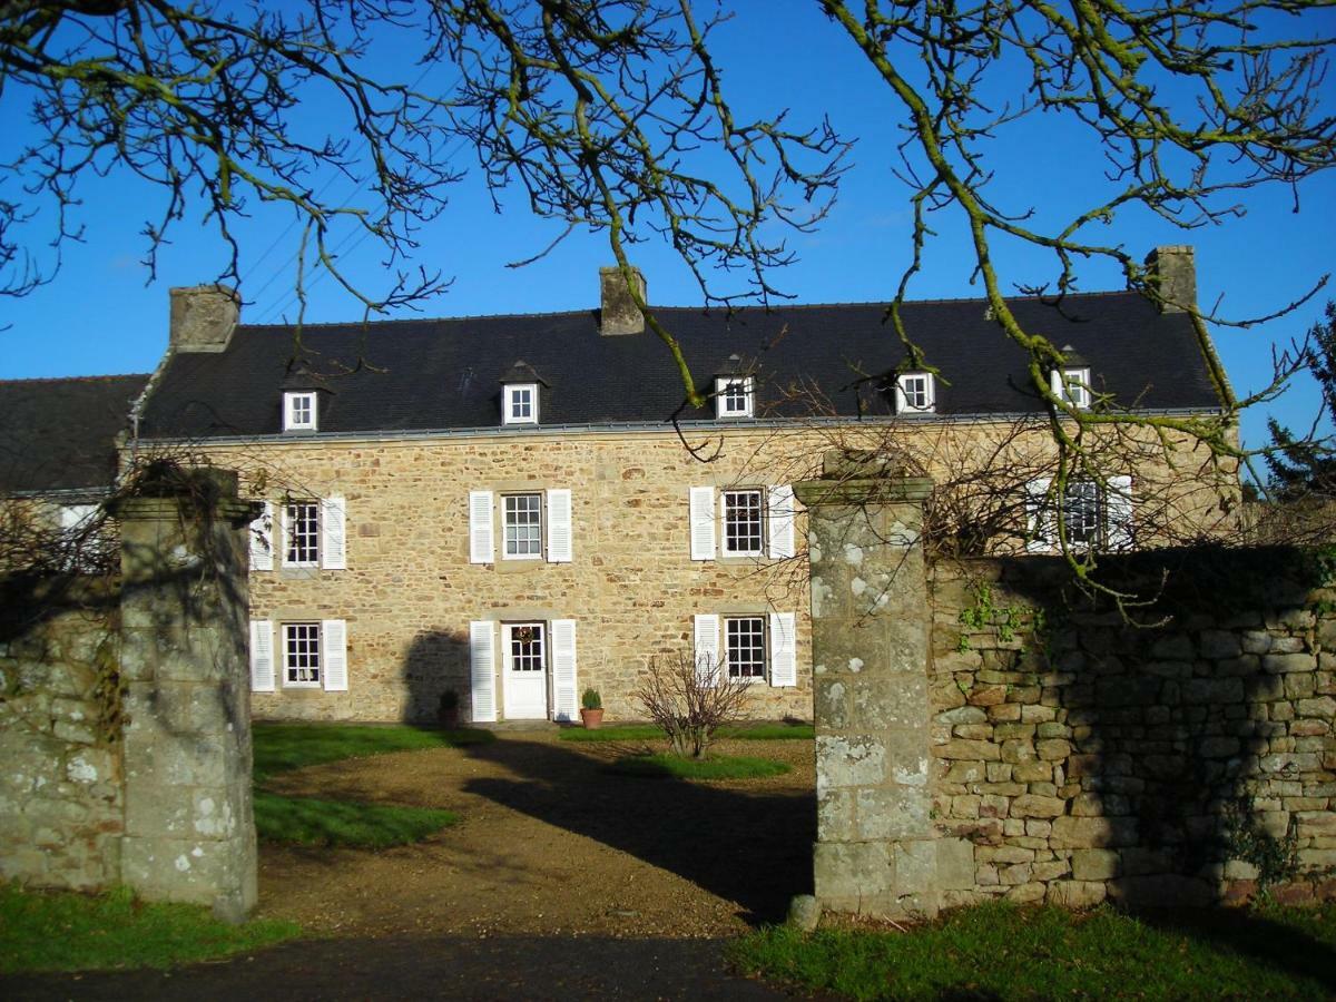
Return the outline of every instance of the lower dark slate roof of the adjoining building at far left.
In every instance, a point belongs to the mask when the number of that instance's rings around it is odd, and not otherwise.
[[[0,494],[100,490],[147,375],[0,381]]]

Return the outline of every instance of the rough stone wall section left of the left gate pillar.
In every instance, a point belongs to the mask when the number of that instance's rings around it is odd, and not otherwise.
[[[115,582],[0,601],[0,876],[92,890],[124,830]],[[24,595],[19,595],[24,592]]]

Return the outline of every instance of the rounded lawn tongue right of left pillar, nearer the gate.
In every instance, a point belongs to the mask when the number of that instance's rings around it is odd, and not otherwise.
[[[255,791],[255,831],[269,842],[389,848],[425,839],[458,819],[452,811],[428,807],[318,800]]]

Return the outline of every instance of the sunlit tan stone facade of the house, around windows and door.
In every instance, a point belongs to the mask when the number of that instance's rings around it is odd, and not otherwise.
[[[811,715],[810,616],[803,520],[799,556],[693,561],[691,486],[788,484],[810,476],[832,444],[911,450],[943,478],[962,457],[993,456],[999,442],[1037,453],[1039,440],[1007,422],[903,424],[892,428],[724,429],[689,432],[700,462],[669,432],[549,433],[387,441],[293,441],[214,446],[214,460],[250,470],[253,494],[347,498],[347,569],[283,569],[251,578],[253,615],[275,623],[346,619],[349,689],[257,693],[257,719],[433,719],[453,688],[468,709],[470,620],[577,623],[578,688],[600,689],[609,720],[639,715],[632,700],[651,657],[692,640],[696,613],[798,613],[796,688],[756,687],[755,717]],[[1047,440],[1045,440],[1047,441]],[[1005,453],[1003,453],[1005,454]],[[1014,474],[1014,462],[1005,458]],[[1162,464],[1161,464],[1162,466]],[[1146,461],[1141,481],[1172,490],[1156,497],[1173,521],[1208,530],[1220,492]],[[574,558],[469,562],[468,494],[569,488]],[[1023,513],[1011,498],[1017,536]],[[1154,520],[1149,520],[1154,522]],[[498,707],[500,679],[498,679]]]

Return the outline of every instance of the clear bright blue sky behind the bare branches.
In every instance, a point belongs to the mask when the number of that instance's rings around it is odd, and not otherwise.
[[[896,163],[898,110],[863,57],[812,4],[784,0],[766,4],[744,0],[740,16],[725,25],[716,44],[725,88],[737,111],[759,114],[791,108],[794,123],[828,114],[846,135],[856,136],[839,200],[815,234],[794,234],[790,247],[798,262],[774,281],[798,302],[884,301],[910,258],[908,191],[892,176]],[[766,16],[758,16],[762,11]],[[1311,31],[1336,33],[1336,12],[1313,17]],[[415,69],[411,71],[415,75]],[[1328,91],[1329,94],[1329,91]],[[5,92],[0,106],[0,159],[8,160],[25,135],[25,107]],[[318,114],[315,108],[313,112]],[[472,167],[472,152],[458,148],[460,167]],[[998,171],[994,196],[1014,210],[1034,208],[1041,219],[1057,219],[1086,204],[1098,186],[1104,164],[1097,147],[1081,146],[1051,119],[1034,119],[1018,135],[990,151]],[[159,262],[158,281],[146,286],[139,263],[144,242],[138,234],[152,215],[155,194],[143,184],[112,174],[88,178],[80,187],[83,243],[68,244],[53,283],[25,299],[0,301],[0,378],[151,371],[167,339],[167,290],[211,281],[223,261],[220,240],[198,219],[182,220]],[[330,194],[355,200],[357,188],[345,179]],[[5,190],[0,190],[5,194]],[[1192,243],[1197,248],[1198,290],[1204,306],[1234,318],[1273,313],[1307,293],[1332,269],[1331,228],[1336,219],[1336,172],[1308,182],[1299,192],[1276,187],[1238,195],[1241,219],[1190,232],[1164,220],[1129,215],[1100,234],[1141,257],[1156,244]],[[943,214],[934,220],[941,236],[926,255],[926,267],[911,287],[916,299],[973,297],[973,257],[963,219]],[[428,303],[428,315],[470,315],[589,309],[597,301],[597,267],[611,263],[599,234],[576,234],[549,257],[524,269],[506,263],[529,258],[561,227],[533,219],[516,194],[494,212],[476,175],[452,195],[445,215],[424,227],[413,265],[440,269],[454,278],[450,291]],[[258,211],[239,227],[242,238],[243,319],[267,322],[291,317],[291,259],[297,228],[289,216]],[[374,282],[383,267],[370,242],[342,248],[354,275]],[[645,273],[651,302],[688,306],[700,293],[685,269],[665,247],[639,244],[633,259]],[[1029,248],[997,247],[998,269],[1007,283],[1053,278],[1051,261]],[[1083,290],[1121,287],[1106,265],[1081,273]],[[359,317],[357,305],[333,281],[313,287],[307,319],[341,321]],[[1329,286],[1307,305],[1277,321],[1246,330],[1217,327],[1216,343],[1240,394],[1269,379],[1272,350],[1303,334],[1320,315]],[[1001,334],[999,334],[1001,337]],[[668,365],[667,353],[664,363]],[[1265,441],[1267,413],[1307,428],[1316,413],[1311,379],[1296,385],[1267,411],[1244,420],[1252,445]]]

